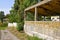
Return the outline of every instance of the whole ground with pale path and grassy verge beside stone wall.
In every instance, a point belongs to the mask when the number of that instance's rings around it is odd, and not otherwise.
[[[28,36],[27,34],[25,34],[24,31],[17,31],[15,27],[0,27],[0,40],[40,40],[40,39]]]

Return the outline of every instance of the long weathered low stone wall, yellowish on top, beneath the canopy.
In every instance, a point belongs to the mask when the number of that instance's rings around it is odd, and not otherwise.
[[[58,21],[25,21],[24,30],[29,35],[37,33],[36,35],[43,34],[54,39],[60,39],[60,22]]]

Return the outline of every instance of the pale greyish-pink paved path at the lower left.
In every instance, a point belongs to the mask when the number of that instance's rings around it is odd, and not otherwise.
[[[19,40],[16,36],[8,30],[1,30],[1,40]]]

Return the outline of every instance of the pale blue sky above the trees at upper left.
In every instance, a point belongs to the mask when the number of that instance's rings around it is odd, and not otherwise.
[[[8,14],[13,4],[14,0],[0,0],[0,11],[4,11],[5,15]]]

